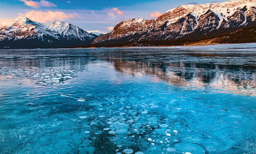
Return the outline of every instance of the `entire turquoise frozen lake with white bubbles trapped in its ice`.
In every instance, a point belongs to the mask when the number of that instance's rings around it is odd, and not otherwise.
[[[0,153],[254,154],[256,44],[0,50]]]

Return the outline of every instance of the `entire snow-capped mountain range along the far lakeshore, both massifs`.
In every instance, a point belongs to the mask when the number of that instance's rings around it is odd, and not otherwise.
[[[256,42],[256,0],[181,5],[157,19],[124,20],[108,34],[59,21],[42,24],[24,16],[0,29],[0,49],[249,42]]]

